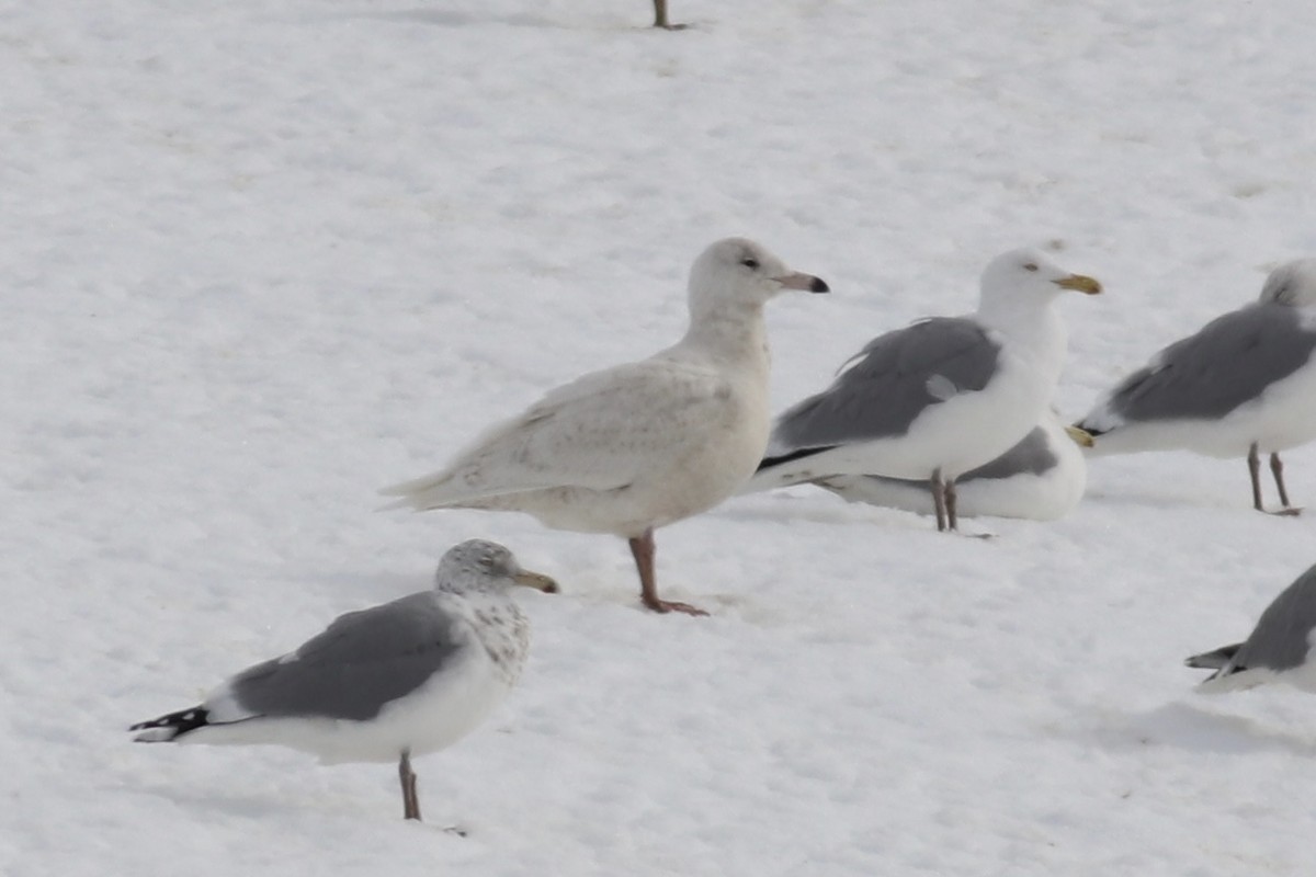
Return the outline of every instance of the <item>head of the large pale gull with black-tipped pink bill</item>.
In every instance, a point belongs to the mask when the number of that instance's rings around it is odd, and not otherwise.
[[[719,241],[690,270],[692,310],[709,302],[762,305],[784,289],[829,292],[819,277],[791,271],[766,247],[745,238]]]

